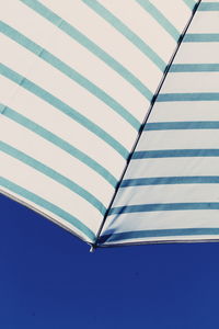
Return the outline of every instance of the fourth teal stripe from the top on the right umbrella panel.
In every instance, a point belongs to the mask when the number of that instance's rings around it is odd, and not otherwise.
[[[219,92],[160,93],[157,102],[219,101]]]

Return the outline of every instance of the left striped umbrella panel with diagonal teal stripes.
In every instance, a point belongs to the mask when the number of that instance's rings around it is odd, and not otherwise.
[[[94,242],[196,3],[4,1],[2,192]]]

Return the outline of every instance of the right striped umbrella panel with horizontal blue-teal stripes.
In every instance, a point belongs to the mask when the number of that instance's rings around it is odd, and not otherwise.
[[[219,2],[198,7],[101,243],[219,238]]]

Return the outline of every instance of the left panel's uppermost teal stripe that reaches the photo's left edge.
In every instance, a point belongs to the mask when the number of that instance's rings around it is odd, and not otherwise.
[[[37,55],[49,65],[61,71],[64,75],[69,77],[71,80],[76,81],[78,84],[83,87],[91,94],[95,95],[99,100],[114,110],[119,116],[122,116],[126,122],[128,122],[136,131],[140,127],[140,122],[132,116],[124,106],[122,106],[116,100],[114,100],[111,95],[108,95],[105,91],[100,89],[93,82],[81,76],[70,66],[66,65],[64,61],[58,59],[56,56],[42,48],[41,46],[33,43],[31,39],[18,33],[15,30],[11,29],[5,24],[1,24],[0,27],[2,32],[4,32],[8,36],[12,37],[14,41],[19,42],[20,45]]]

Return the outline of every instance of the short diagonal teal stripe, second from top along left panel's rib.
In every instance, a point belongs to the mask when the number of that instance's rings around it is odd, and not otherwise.
[[[150,1],[136,0],[150,15],[175,39],[180,37],[180,32],[175,26],[153,5]]]

